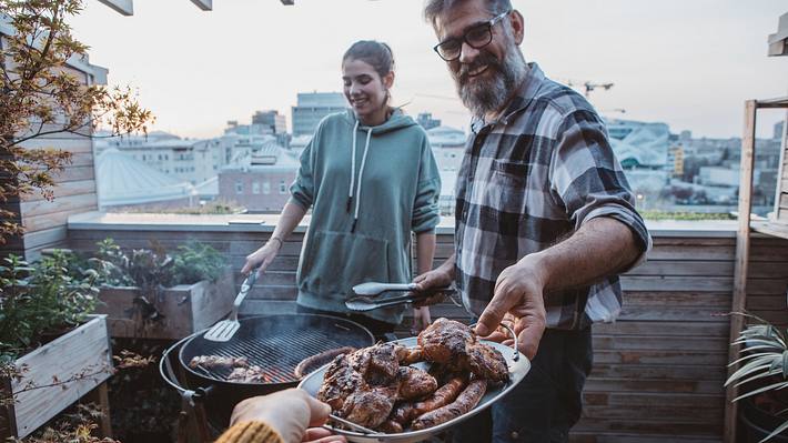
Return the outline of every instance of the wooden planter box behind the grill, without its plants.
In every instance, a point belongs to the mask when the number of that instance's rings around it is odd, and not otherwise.
[[[182,339],[211,326],[230,313],[235,299],[233,272],[228,269],[214,283],[208,280],[164,289],[160,300],[142,301],[135,286],[103,286],[97,312],[107,314],[110,334],[118,338]],[[147,320],[155,309],[160,318]]]

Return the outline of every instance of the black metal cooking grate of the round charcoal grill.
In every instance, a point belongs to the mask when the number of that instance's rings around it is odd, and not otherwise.
[[[336,348],[346,346],[347,342],[333,340],[330,335],[316,330],[299,330],[289,336],[249,336],[233,340],[230,343],[216,343],[204,341],[201,346],[202,355],[221,355],[231,358],[245,356],[249,363],[263,369],[265,375],[270,377],[267,383],[290,383],[297,382],[293,371],[295,366],[307,356],[319,354]],[[215,343],[215,344],[208,344]],[[183,363],[189,363],[191,358]],[[232,369],[199,368],[195,372],[201,375],[226,382]]]

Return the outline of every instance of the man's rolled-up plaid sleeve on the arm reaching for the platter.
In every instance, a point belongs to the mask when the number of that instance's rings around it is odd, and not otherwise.
[[[607,139],[605,124],[589,110],[564,118],[550,159],[552,191],[563,203],[575,230],[598,217],[624,223],[635,236],[645,261],[651,249],[646,223],[635,209],[635,195]]]

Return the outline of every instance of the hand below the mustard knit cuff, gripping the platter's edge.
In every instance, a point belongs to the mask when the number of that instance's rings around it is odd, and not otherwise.
[[[330,413],[331,406],[312,397],[306,391],[289,389],[242,401],[233,409],[230,424],[263,422],[273,427],[286,443],[297,443],[304,439],[343,442],[344,439],[341,436],[326,436],[314,431],[307,433],[309,426],[320,426],[325,423]]]

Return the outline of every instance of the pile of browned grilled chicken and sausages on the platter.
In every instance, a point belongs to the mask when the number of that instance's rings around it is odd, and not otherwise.
[[[382,343],[339,355],[325,372],[317,399],[334,414],[387,433],[423,430],[471,411],[487,384],[508,381],[496,349],[478,342],[459,322],[438,319],[413,349]],[[410,364],[426,361],[430,371]]]

